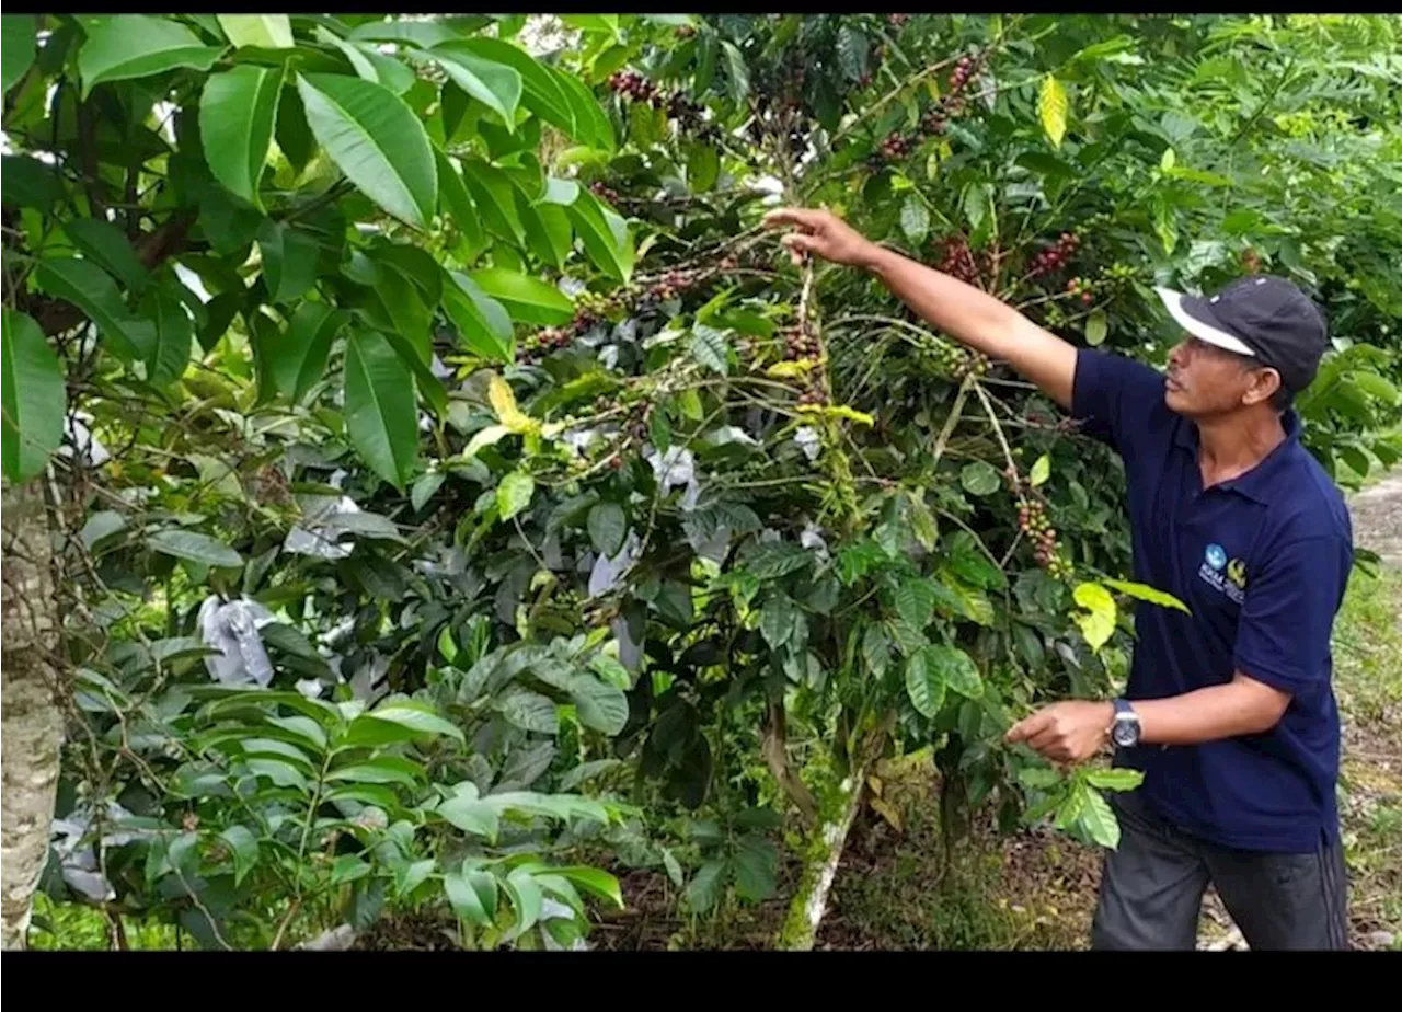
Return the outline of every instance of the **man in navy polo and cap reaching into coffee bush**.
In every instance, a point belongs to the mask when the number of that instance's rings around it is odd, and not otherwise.
[[[1134,579],[1192,611],[1140,606],[1124,699],[1047,706],[1008,732],[1059,763],[1103,746],[1143,785],[1112,798],[1098,949],[1192,949],[1211,882],[1253,949],[1345,949],[1329,639],[1353,562],[1333,482],[1290,401],[1328,343],[1294,285],[1246,278],[1210,299],[1159,290],[1187,332],[1161,376],[1077,349],[1012,307],[859,235],[823,210],[768,227],[795,262],[872,272],[932,327],[1002,359],[1124,458]]]

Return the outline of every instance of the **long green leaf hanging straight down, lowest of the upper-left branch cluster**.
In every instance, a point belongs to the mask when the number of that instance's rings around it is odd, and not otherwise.
[[[356,453],[402,492],[418,457],[414,373],[374,331],[355,328],[346,339],[345,419]]]

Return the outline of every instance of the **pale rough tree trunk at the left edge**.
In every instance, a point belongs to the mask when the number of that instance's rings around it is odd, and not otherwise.
[[[0,479],[0,950],[24,948],[49,855],[63,740],[56,620],[42,489]]]

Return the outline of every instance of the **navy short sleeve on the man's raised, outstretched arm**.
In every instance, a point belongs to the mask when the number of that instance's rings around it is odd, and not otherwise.
[[[1166,433],[1172,412],[1164,405],[1164,377],[1141,362],[1081,348],[1071,381],[1071,416],[1088,436],[1122,456],[1152,433]]]

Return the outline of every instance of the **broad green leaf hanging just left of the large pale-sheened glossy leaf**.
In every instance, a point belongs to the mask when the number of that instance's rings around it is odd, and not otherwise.
[[[230,192],[259,209],[258,181],[278,121],[282,80],[282,64],[241,63],[212,74],[199,100],[199,136],[209,170]]]

